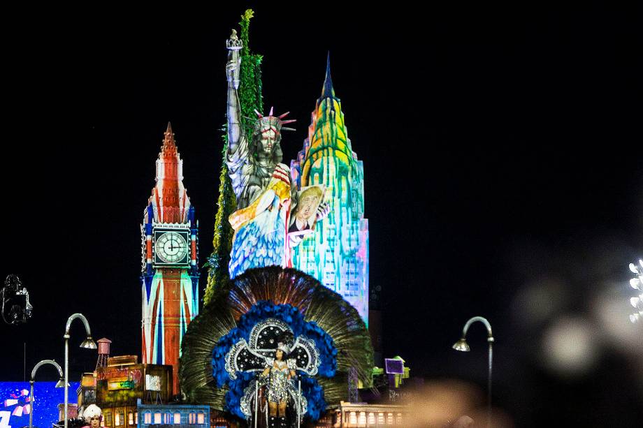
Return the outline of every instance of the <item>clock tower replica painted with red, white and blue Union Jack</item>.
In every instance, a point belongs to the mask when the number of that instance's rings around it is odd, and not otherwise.
[[[156,185],[143,213],[143,364],[171,364],[178,394],[178,362],[187,325],[198,314],[198,223],[183,187],[183,161],[168,123],[157,159]]]

